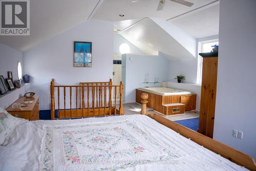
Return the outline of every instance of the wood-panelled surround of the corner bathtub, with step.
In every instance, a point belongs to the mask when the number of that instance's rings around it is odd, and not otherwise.
[[[148,94],[148,108],[164,115],[184,114],[185,111],[196,110],[197,94],[160,95],[136,89],[136,102],[141,104],[141,94]]]

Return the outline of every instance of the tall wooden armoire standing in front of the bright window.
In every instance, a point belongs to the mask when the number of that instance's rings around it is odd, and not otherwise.
[[[200,118],[198,132],[212,138],[217,89],[218,52],[199,53],[203,57]]]

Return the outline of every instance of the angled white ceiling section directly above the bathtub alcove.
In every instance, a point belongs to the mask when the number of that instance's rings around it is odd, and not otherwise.
[[[142,19],[136,25],[133,25],[131,28],[122,31],[119,34],[132,42],[133,45],[138,47],[145,54],[157,55],[158,51],[160,51],[169,59],[184,59],[195,57],[195,54],[191,53],[185,48],[186,45],[183,44],[184,41],[178,41],[175,39],[175,35],[170,35],[172,33],[168,33],[168,30],[166,31],[164,28],[160,27],[161,22],[158,21],[157,24],[154,20],[157,20],[157,18]],[[165,20],[164,22],[165,24],[169,24]],[[165,26],[165,28],[166,27],[167,26]],[[171,28],[175,34],[177,32],[178,34],[182,33],[182,31],[177,27]],[[182,35],[183,38],[186,38],[184,35]],[[188,38],[191,38],[191,36]],[[196,39],[194,40],[196,42]]]

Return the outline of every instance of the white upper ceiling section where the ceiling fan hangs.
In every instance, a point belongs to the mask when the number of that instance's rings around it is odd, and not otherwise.
[[[158,17],[169,19],[185,12],[197,9],[216,0],[187,0],[194,3],[187,7],[166,0],[162,11],[157,11],[159,0],[105,0],[93,16],[95,19],[113,22],[144,17]],[[120,17],[119,14],[124,14]]]

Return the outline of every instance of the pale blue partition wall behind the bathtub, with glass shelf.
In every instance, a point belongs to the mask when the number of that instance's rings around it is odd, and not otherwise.
[[[143,83],[147,73],[149,74],[149,82],[154,82],[155,77],[159,78],[159,82],[166,81],[168,78],[168,59],[162,55],[122,55],[123,99],[125,103],[136,101],[136,88],[161,87],[161,83]]]

